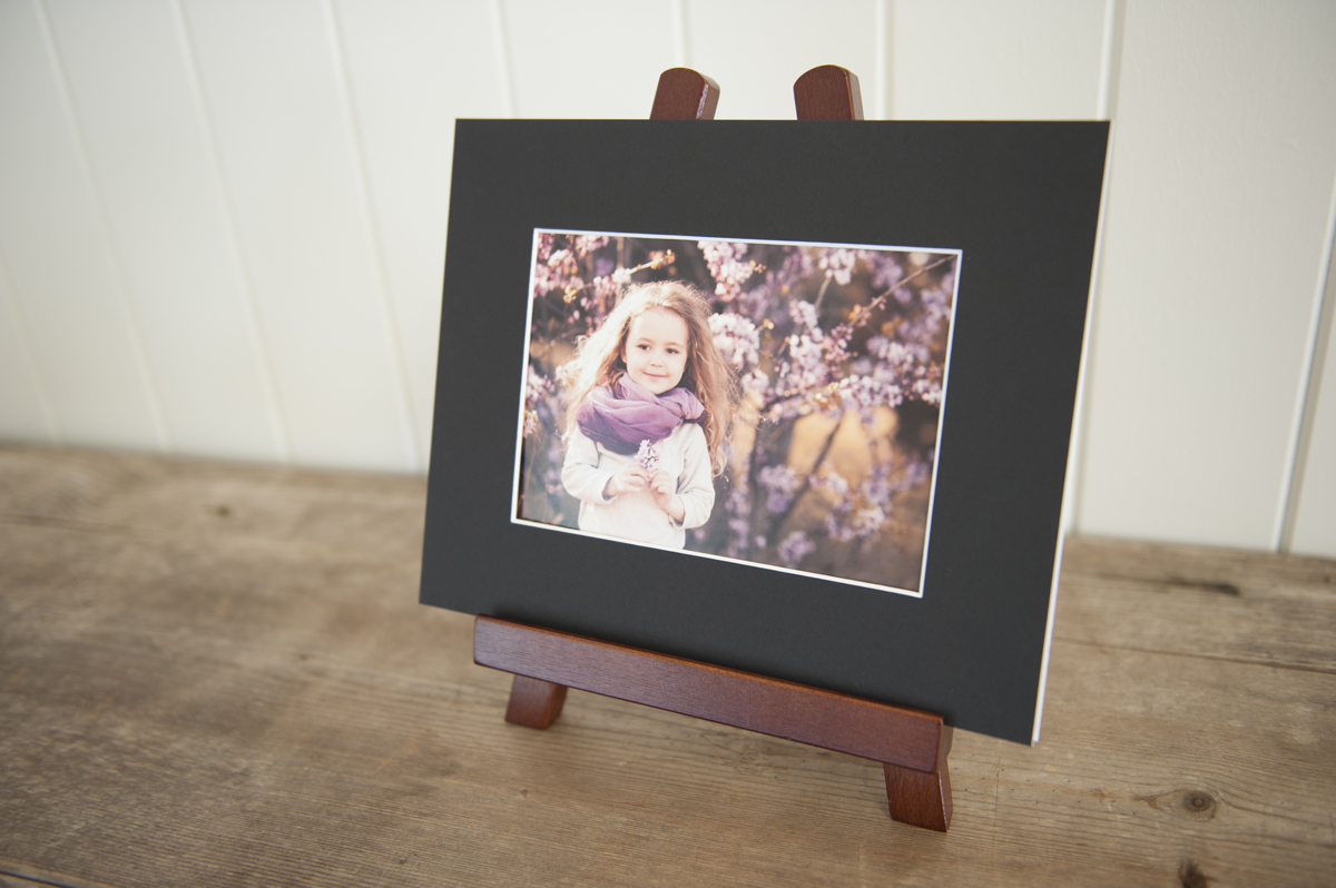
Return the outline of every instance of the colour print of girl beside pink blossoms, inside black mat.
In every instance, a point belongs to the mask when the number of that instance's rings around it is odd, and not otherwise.
[[[512,519],[922,597],[961,251],[534,232]]]

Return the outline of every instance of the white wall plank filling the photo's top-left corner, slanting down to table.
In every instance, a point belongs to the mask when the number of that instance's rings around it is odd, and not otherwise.
[[[0,3],[0,255],[67,443],[160,429],[40,9]]]

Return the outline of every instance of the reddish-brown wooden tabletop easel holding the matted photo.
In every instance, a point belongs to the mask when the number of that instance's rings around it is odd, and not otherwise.
[[[836,65],[794,84],[799,120],[862,120],[858,77]],[[659,77],[653,120],[711,120],[719,84],[689,68]],[[505,720],[546,728],[566,688],[882,762],[891,817],[946,832],[951,728],[942,716],[552,629],[478,617],[473,662],[514,673]]]

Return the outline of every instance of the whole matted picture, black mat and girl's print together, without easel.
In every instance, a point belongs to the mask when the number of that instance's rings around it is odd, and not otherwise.
[[[1035,741],[1106,143],[460,122],[422,601]]]

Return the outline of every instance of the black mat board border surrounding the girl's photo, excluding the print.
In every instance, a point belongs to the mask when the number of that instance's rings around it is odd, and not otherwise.
[[[421,601],[1030,742],[1106,123],[460,120]],[[959,248],[923,597],[512,523],[534,228]]]

